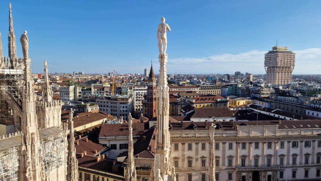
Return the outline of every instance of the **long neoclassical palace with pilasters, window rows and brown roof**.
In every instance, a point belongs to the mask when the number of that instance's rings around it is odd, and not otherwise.
[[[170,157],[179,181],[208,180],[211,123],[216,180],[320,178],[321,120],[172,122]]]

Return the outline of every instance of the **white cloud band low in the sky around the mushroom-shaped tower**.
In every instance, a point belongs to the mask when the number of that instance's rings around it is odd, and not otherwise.
[[[241,71],[264,74],[264,54],[267,51],[252,50],[239,54],[218,54],[203,58],[169,59],[169,73],[234,73]],[[321,73],[321,48],[296,50],[294,74]]]

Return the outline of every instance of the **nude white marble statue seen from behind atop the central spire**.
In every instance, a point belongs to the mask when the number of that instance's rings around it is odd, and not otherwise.
[[[165,23],[165,18],[161,18],[161,23],[157,27],[157,34],[156,37],[158,39],[158,50],[160,52],[160,55],[165,55],[166,54],[166,49],[167,49],[167,36],[166,36],[166,31],[168,30],[170,32],[169,25]],[[163,47],[164,45],[164,47]]]

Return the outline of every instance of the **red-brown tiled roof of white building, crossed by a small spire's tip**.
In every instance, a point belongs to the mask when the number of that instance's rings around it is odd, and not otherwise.
[[[133,123],[133,135],[139,135],[147,131],[148,122]],[[100,129],[99,136],[128,136],[128,123],[123,124],[104,124]]]

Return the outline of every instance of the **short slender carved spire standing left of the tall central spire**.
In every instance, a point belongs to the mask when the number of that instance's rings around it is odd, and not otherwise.
[[[126,181],[136,181],[136,168],[134,163],[134,141],[133,141],[133,118],[129,113],[128,116],[128,130],[129,130],[129,138],[128,138],[128,158],[127,158],[127,167],[126,167]]]

